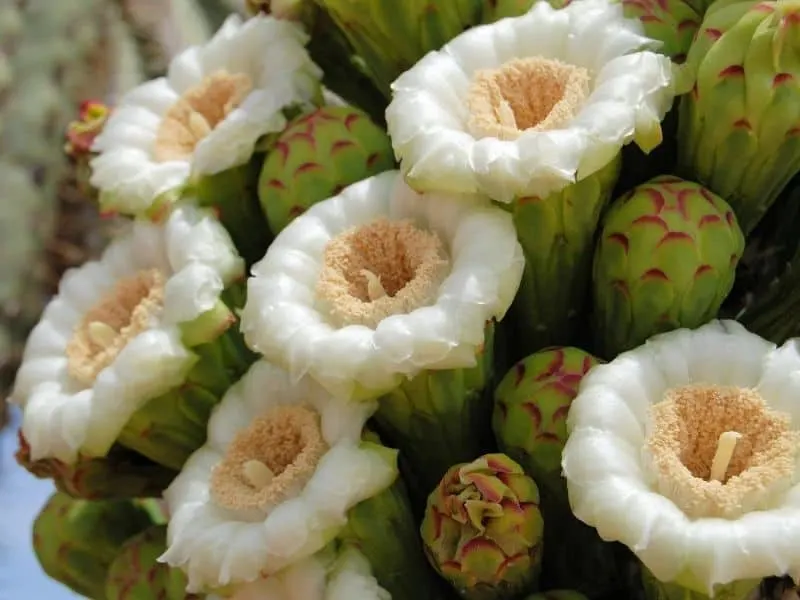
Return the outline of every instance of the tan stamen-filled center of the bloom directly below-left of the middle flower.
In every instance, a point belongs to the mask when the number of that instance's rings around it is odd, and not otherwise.
[[[270,510],[303,489],[327,450],[317,411],[273,408],[236,434],[211,474],[211,495],[224,508]]]

